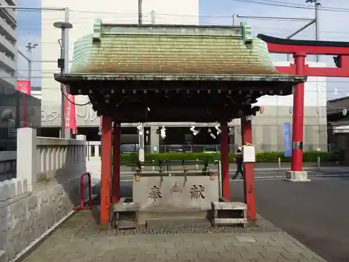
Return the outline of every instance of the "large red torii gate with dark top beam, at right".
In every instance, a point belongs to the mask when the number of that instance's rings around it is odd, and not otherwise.
[[[276,66],[280,73],[290,75],[349,77],[349,42],[308,41],[276,38],[258,34],[265,41],[269,52],[293,54],[294,64]],[[334,55],[337,68],[309,67],[305,64],[306,55]],[[303,166],[303,121],[304,121],[304,83],[297,84],[293,98],[293,127],[292,127],[292,167],[291,170],[302,171]]]

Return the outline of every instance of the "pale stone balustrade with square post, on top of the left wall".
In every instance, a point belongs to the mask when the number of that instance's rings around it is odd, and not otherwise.
[[[85,170],[85,136],[77,139],[44,138],[36,129],[17,130],[17,155],[3,152],[0,159],[17,159],[17,178],[0,182],[0,201],[32,191],[35,184]],[[6,160],[8,160],[6,159]]]

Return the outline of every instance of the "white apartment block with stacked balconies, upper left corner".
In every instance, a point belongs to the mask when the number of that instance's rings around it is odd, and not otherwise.
[[[15,6],[14,0],[0,0],[0,6]],[[16,11],[0,9],[0,85],[16,88]]]

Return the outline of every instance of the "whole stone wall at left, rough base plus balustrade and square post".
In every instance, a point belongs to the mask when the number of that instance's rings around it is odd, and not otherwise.
[[[3,261],[20,256],[80,203],[80,175],[86,172],[84,136],[64,140],[34,134],[29,128],[17,133],[17,180],[23,183],[16,180],[10,187],[10,182],[2,182],[6,186],[0,201]],[[27,190],[19,192],[17,185]]]

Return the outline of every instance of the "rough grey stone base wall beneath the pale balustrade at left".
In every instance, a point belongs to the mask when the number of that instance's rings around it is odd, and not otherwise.
[[[33,192],[0,204],[0,249],[10,261],[79,203],[80,175],[34,186]]]

